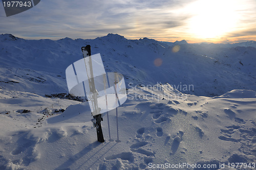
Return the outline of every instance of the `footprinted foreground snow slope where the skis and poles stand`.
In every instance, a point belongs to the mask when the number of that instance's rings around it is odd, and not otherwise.
[[[23,92],[15,93],[17,98],[3,97],[1,108],[13,111],[0,114],[1,169],[150,169],[149,163],[219,166],[255,162],[255,91],[232,90],[218,98],[207,98],[181,94],[169,84],[158,87],[129,91],[129,100],[118,108],[121,142],[115,141],[115,112],[109,113],[112,141],[103,116],[105,142],[100,143],[87,103],[49,115],[42,127],[33,128],[45,107],[51,114],[75,103],[39,100],[40,96]],[[150,98],[157,97],[155,94],[169,96],[170,100]],[[1,96],[5,95],[12,94],[1,91]],[[18,109],[30,112],[18,113]]]

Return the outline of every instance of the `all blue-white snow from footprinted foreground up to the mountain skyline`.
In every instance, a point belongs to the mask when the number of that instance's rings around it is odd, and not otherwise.
[[[57,41],[0,35],[0,169],[151,169],[165,163],[237,169],[228,163],[255,163],[253,42],[180,42],[174,53],[174,43],[116,34]],[[101,54],[106,72],[124,75],[129,88],[118,107],[120,142],[115,110],[109,111],[111,140],[103,114],[100,143],[88,102],[45,96],[68,92],[65,70],[82,58],[86,44]]]

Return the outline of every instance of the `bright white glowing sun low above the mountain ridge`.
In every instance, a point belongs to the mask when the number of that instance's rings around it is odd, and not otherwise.
[[[195,38],[215,39],[236,28],[239,20],[236,0],[199,0],[190,6],[193,17],[188,22],[189,32]]]

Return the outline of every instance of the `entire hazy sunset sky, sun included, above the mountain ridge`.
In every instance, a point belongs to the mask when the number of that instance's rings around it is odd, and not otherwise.
[[[255,0],[42,0],[6,17],[0,33],[25,39],[94,39],[108,33],[127,39],[189,43],[256,41]]]

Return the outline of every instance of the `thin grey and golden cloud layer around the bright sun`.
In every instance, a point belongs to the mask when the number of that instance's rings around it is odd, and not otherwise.
[[[187,30],[187,22],[194,14],[193,9],[187,10],[186,7],[195,1],[44,0],[34,8],[11,17],[6,17],[3,10],[0,10],[0,32],[28,39],[96,38],[108,33],[117,33],[127,38],[189,39],[193,37]],[[241,23],[255,20],[255,12],[252,11],[256,11],[256,7],[250,8],[249,11],[241,9],[240,13],[247,15]],[[255,34],[253,28],[233,32],[228,36]]]

